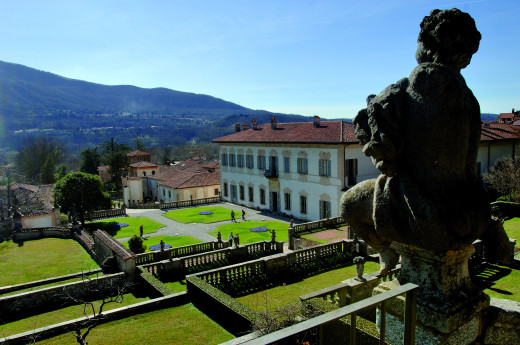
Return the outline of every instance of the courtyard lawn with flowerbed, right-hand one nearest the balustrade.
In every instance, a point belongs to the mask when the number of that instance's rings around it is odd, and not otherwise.
[[[220,231],[222,235],[222,240],[227,241],[230,232],[233,232],[233,235],[236,235],[238,233],[238,237],[240,238],[240,244],[254,243],[260,241],[271,241],[271,232],[269,231],[249,231],[249,229],[256,228],[259,226],[267,227],[269,230],[274,229],[276,231],[276,240],[287,242],[287,229],[289,228],[289,225],[287,223],[278,221],[240,221],[237,223],[222,224],[219,225],[216,230],[210,231],[209,234],[217,237],[217,233]]]

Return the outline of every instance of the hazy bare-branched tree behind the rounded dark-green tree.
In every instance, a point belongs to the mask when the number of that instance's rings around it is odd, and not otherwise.
[[[22,143],[16,157],[16,167],[29,181],[39,181],[43,166],[50,156],[54,164],[63,160],[63,143],[50,137],[31,137]]]

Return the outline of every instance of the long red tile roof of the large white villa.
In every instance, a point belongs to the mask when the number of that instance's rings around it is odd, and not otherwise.
[[[322,121],[314,128],[313,122],[278,123],[276,129],[271,124],[258,126],[212,140],[214,143],[316,143],[346,144],[358,143],[354,135],[354,125],[344,121]]]

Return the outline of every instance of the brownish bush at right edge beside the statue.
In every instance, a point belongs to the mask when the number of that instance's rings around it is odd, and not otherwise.
[[[520,202],[520,159],[502,158],[483,176],[484,181],[508,201]]]

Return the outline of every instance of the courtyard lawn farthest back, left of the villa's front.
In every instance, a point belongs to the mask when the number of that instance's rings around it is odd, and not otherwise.
[[[213,212],[213,214],[201,215],[199,212]],[[236,209],[235,219],[242,217],[242,210]],[[168,211],[163,216],[173,219],[179,223],[215,223],[231,220],[231,209],[220,206],[203,206],[193,208],[183,208],[180,210]],[[247,217],[247,211],[246,211]],[[247,219],[247,218],[246,218]]]

